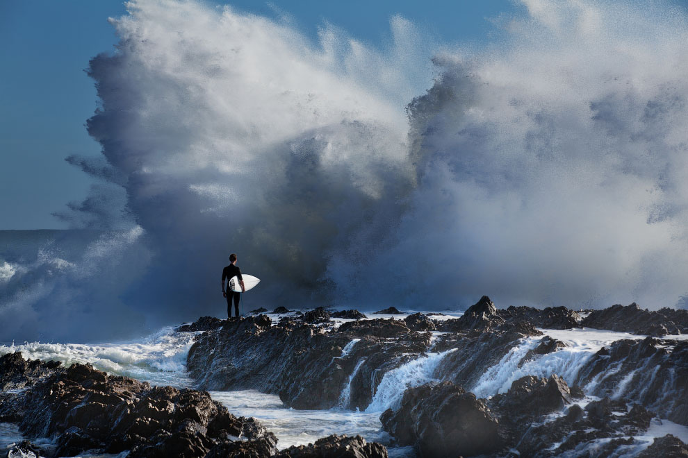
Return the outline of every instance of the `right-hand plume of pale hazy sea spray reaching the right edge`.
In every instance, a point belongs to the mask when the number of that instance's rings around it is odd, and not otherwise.
[[[419,309],[484,291],[673,306],[688,288],[685,12],[524,3],[505,44],[434,59],[441,76],[409,105],[419,185],[364,268],[382,285],[361,288]]]

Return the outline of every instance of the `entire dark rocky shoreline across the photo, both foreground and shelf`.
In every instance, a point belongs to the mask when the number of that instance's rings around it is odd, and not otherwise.
[[[674,436],[649,446],[637,439],[658,418],[688,425],[688,341],[657,338],[688,330],[686,311],[497,309],[484,296],[461,317],[442,320],[282,307],[275,312],[285,315],[273,322],[262,312],[231,321],[204,317],[177,328],[198,332],[187,357],[196,389],[155,387],[88,364],[4,355],[0,422],[16,423],[27,437],[53,439],[50,446],[17,444],[15,454],[387,456],[382,444],[360,436],[279,450],[275,434],[255,418],[236,417],[199,391],[254,389],[294,409],[380,412],[390,444],[413,446],[420,457],[603,457],[643,448],[634,456],[688,456],[688,446]],[[562,374],[530,373],[503,391],[481,388],[490,371],[507,363],[527,373],[542,358],[564,355],[568,344],[541,329],[582,325],[655,337],[603,346],[575,362],[568,383]],[[415,382],[404,382],[411,369],[427,380],[415,375]]]

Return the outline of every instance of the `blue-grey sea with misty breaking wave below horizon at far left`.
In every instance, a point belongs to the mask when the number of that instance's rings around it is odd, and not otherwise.
[[[143,274],[143,230],[1,231],[0,342],[122,340],[147,331],[120,298]],[[12,275],[9,275],[11,273]]]

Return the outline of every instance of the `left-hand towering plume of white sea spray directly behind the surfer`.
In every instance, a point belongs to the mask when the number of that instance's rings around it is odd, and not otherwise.
[[[413,189],[403,105],[430,78],[418,84],[416,31],[393,18],[378,53],[231,8],[128,8],[117,51],[91,62],[101,109],[88,121],[156,253],[128,300],[161,323],[221,314],[234,251],[263,279],[252,306],[331,298],[328,255],[375,246]]]

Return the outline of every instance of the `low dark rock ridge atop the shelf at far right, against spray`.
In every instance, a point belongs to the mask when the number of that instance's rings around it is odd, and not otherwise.
[[[668,334],[688,333],[688,310],[663,308],[650,312],[636,303],[612,305],[594,310],[582,321],[587,328],[598,328],[632,334],[662,337]]]

